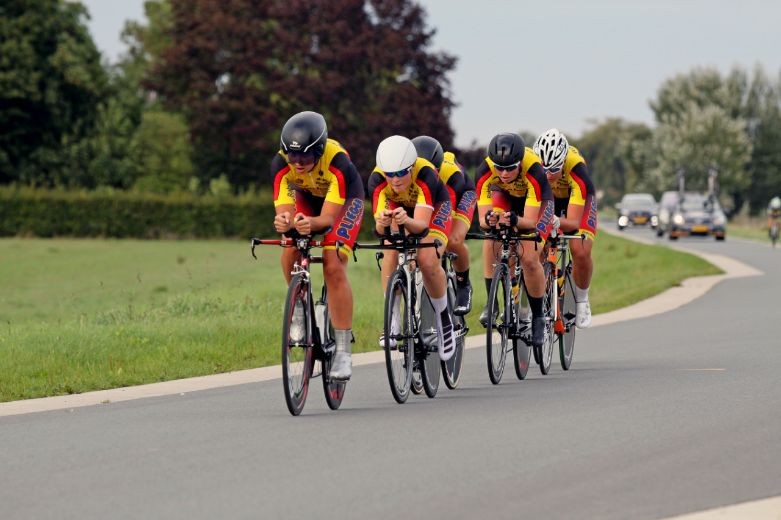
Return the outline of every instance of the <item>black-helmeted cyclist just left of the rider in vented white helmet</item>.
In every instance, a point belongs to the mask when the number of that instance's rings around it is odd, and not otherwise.
[[[477,168],[475,177],[478,179],[478,214],[482,228],[510,225],[521,232],[539,231],[542,239],[547,240],[556,225],[553,194],[539,157],[526,147],[521,136],[515,133],[494,136],[488,144],[488,157]],[[486,243],[488,247],[483,247],[483,274],[486,290],[490,291],[494,244],[490,241]],[[532,242],[520,242],[518,247],[532,311],[532,344],[539,347],[545,333],[542,249]],[[485,326],[489,319],[486,305],[480,315],[480,323]]]

